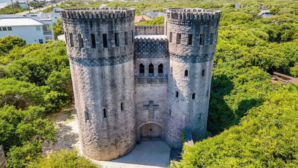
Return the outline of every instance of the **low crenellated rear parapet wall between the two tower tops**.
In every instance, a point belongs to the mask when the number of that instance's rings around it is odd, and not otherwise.
[[[135,34],[164,34],[164,25],[136,25]]]

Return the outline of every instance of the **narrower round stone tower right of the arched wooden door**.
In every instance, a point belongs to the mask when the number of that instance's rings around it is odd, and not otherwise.
[[[194,141],[205,138],[213,57],[221,11],[164,11],[169,41],[166,142],[181,148],[182,132]]]

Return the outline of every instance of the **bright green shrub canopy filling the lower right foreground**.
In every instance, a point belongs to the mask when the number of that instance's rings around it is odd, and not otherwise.
[[[267,95],[238,126],[185,147],[172,167],[298,167],[298,86]]]

